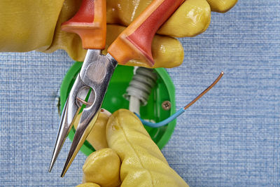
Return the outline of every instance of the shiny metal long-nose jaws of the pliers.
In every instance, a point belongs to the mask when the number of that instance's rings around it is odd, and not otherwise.
[[[61,123],[49,171],[52,169],[52,165],[71,127],[73,127],[73,121],[78,116],[83,104],[85,104],[61,176],[63,177],[66,173],[97,120],[109,81],[111,80],[111,76],[117,64],[118,62],[110,55],[101,55],[100,50],[87,50],[83,66],[71,88],[62,112]],[[89,92],[90,95],[88,95]],[[88,97],[87,101],[86,97]]]

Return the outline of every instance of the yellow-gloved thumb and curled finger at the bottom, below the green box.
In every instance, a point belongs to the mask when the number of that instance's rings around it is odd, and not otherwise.
[[[106,125],[109,148],[92,153],[83,166],[82,186],[188,186],[169,167],[141,121],[120,109]],[[121,164],[120,164],[121,163]]]

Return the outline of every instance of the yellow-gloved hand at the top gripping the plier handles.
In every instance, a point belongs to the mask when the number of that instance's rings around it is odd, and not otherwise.
[[[152,0],[107,0],[107,42],[111,42]],[[210,23],[211,10],[228,11],[237,0],[187,0],[158,31],[153,40],[154,67],[176,67],[183,62],[183,47],[173,37],[196,36]],[[78,35],[62,32],[60,25],[78,11],[80,1],[0,1],[0,51],[38,50],[52,53],[64,49],[73,60],[83,61]],[[210,8],[211,7],[211,8]],[[131,61],[127,65],[146,66]]]

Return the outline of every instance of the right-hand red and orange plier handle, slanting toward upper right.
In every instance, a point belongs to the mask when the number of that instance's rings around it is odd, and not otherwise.
[[[152,41],[155,33],[185,0],[154,0],[108,49],[120,64],[141,60],[153,67]]]

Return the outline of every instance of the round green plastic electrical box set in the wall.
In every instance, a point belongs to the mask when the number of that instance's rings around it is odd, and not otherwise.
[[[60,111],[62,111],[69,92],[73,86],[74,81],[82,67],[82,62],[76,62],[69,69],[60,88]],[[163,68],[154,69],[158,78],[155,86],[151,91],[151,95],[148,97],[148,103],[146,106],[140,107],[140,116],[145,120],[151,120],[155,123],[165,120],[169,116],[172,116],[176,112],[175,101],[175,88],[172,79],[167,74],[167,71]],[[134,67],[127,67],[118,65],[113,73],[111,81],[109,83],[108,90],[104,97],[102,108],[113,113],[118,109],[128,109],[129,102],[123,97],[126,89],[129,86],[130,81],[134,75]],[[169,106],[167,107],[167,104]],[[169,141],[176,125],[176,120],[163,127],[152,128],[146,127],[146,130],[150,134],[151,138],[162,149]],[[75,129],[72,128],[69,132],[69,139],[73,140]],[[92,145],[85,141],[80,151],[85,155],[90,155],[94,150]]]

